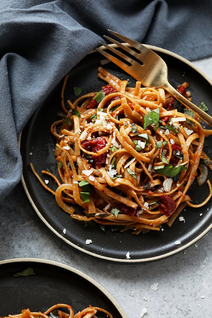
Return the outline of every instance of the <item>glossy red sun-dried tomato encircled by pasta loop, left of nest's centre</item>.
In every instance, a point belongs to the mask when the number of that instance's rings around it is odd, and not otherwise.
[[[95,138],[92,140],[84,140],[82,142],[82,147],[90,152],[97,152],[106,146],[107,142],[105,138]],[[99,156],[92,156],[93,161],[97,165],[98,168],[105,163],[106,153],[101,154]]]

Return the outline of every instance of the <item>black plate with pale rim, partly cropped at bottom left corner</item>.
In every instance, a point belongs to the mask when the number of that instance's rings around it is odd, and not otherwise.
[[[14,277],[31,267],[35,275]],[[63,303],[74,313],[97,306],[109,311],[114,318],[127,318],[123,309],[97,281],[79,270],[55,261],[35,258],[0,261],[0,316],[19,314],[22,309],[44,312]],[[99,318],[106,317],[98,312]]]

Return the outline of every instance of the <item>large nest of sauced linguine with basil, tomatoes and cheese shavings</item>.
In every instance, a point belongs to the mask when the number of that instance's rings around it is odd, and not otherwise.
[[[102,67],[98,71],[108,84],[73,103],[68,100],[69,110],[65,77],[65,119],[51,126],[60,180],[42,171],[54,178],[57,189],[42,181],[32,163],[31,168],[73,219],[133,234],[171,226],[186,205],[200,207],[212,196],[209,180],[209,194],[201,204],[192,204],[187,194],[200,163],[211,168],[203,145],[212,131],[164,89],[141,87],[139,81],[128,87]],[[187,87],[183,83],[178,90],[190,98]],[[74,204],[82,207],[82,215],[75,213]]]

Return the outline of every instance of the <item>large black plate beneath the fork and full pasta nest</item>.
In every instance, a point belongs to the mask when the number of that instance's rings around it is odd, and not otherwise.
[[[190,84],[192,101],[197,105],[204,101],[210,107],[212,87],[209,80],[193,64],[180,56],[163,49],[151,48],[166,61],[170,83],[177,87],[187,81]],[[101,86],[105,85],[97,77],[100,60],[102,60],[102,56],[98,52],[93,52],[72,69],[65,90],[65,100],[73,101],[75,99],[73,86],[83,87],[83,93],[86,93],[99,91]],[[121,79],[130,79],[129,75],[112,63],[106,64],[104,67]],[[130,81],[134,80],[130,79]],[[164,225],[163,232],[152,231],[138,236],[131,234],[130,231],[111,232],[110,228],[103,232],[97,224],[92,222],[88,222],[85,227],[84,222],[73,220],[69,214],[61,210],[54,197],[44,190],[30,168],[30,162],[33,162],[40,175],[42,175],[42,169],[50,169],[57,174],[53,151],[55,141],[50,134],[50,126],[58,118],[60,89],[61,85],[38,108],[24,128],[20,141],[24,163],[22,181],[25,191],[38,217],[58,238],[79,251],[100,259],[136,263],[157,260],[175,254],[193,244],[209,231],[212,226],[212,201],[200,209],[187,207],[186,211],[182,212],[185,223],[177,219],[171,228]],[[212,109],[209,110],[209,114],[212,114]],[[205,145],[206,152],[210,156],[212,149],[210,138],[206,140]],[[211,178],[211,174],[209,174],[209,178]],[[44,176],[43,179],[46,177]],[[49,185],[54,186],[54,182],[50,181]],[[196,183],[189,190],[194,203],[202,202],[207,193],[207,185],[199,188]],[[78,209],[80,208],[76,207],[76,211],[79,211]],[[66,229],[65,235],[64,228]],[[86,239],[91,239],[92,243],[86,245]],[[181,244],[175,245],[176,240],[180,240]],[[127,252],[130,253],[130,259],[126,257]]]

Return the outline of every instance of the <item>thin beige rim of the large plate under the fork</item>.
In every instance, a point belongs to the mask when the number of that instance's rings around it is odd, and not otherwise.
[[[123,43],[124,45],[126,46],[130,46],[128,43]],[[174,57],[175,59],[178,59],[180,60],[181,62],[187,64],[189,67],[193,68],[196,72],[198,72],[202,77],[204,77],[204,79],[206,79],[209,84],[212,86],[212,79],[210,79],[204,72],[202,72],[202,70],[200,70],[197,66],[195,66],[192,62],[190,62],[189,60],[185,59],[184,57],[174,53],[174,52],[171,52],[167,49],[163,49],[161,47],[158,47],[158,46],[154,46],[154,45],[147,45],[147,44],[143,44],[145,45],[147,48],[151,49],[151,50],[154,50],[156,52],[161,52],[161,53],[165,53],[171,57]],[[109,46],[112,46],[112,47],[118,47],[117,45],[115,44],[109,44]],[[101,49],[106,49],[105,46],[99,46],[99,48]],[[97,52],[95,49],[92,50],[89,54],[92,54],[92,53],[95,53]],[[89,55],[88,54],[88,55]],[[80,62],[79,62],[80,63]],[[71,72],[71,70],[69,71]],[[22,135],[22,132],[20,133],[19,137],[18,137],[18,146],[19,146],[19,149],[20,149],[20,145],[21,145],[21,135]],[[44,223],[44,225],[46,225],[48,227],[48,229],[53,232],[54,235],[56,235],[59,239],[61,239],[64,243],[72,246],[73,248],[75,248],[76,250],[80,251],[80,252],[83,252],[91,257],[95,257],[95,258],[99,258],[99,259],[102,259],[102,260],[106,260],[106,261],[111,261],[111,262],[115,262],[115,263],[127,263],[127,264],[138,264],[138,263],[147,263],[147,262],[152,262],[152,261],[157,261],[157,260],[160,260],[160,259],[164,259],[164,258],[167,258],[169,256],[172,256],[174,254],[177,254],[185,249],[187,249],[189,246],[193,245],[195,242],[197,242],[199,239],[201,239],[206,233],[208,233],[211,228],[212,228],[212,222],[211,224],[209,224],[209,226],[202,232],[200,233],[197,237],[195,237],[194,239],[192,239],[191,241],[189,241],[187,244],[185,245],[182,245],[182,246],[179,246],[177,247],[176,249],[174,249],[173,251],[170,251],[170,252],[167,252],[167,253],[164,253],[162,255],[158,255],[158,256],[154,256],[154,257],[149,257],[149,258],[144,258],[144,259],[116,259],[116,258],[113,258],[113,257],[108,257],[108,256],[103,256],[103,255],[98,255],[97,253],[94,253],[94,252],[90,252],[90,251],[87,251],[86,249],[84,248],[81,248],[79,247],[78,245],[76,244],[73,244],[71,241],[69,241],[68,239],[66,239],[63,235],[61,235],[60,233],[58,233],[46,220],[45,218],[42,216],[41,212],[38,210],[38,208],[36,207],[28,189],[27,189],[27,186],[26,186],[26,183],[25,183],[25,180],[24,180],[24,176],[22,174],[21,176],[21,183],[22,183],[22,186],[24,188],[24,191],[25,191],[25,194],[31,204],[31,207],[33,208],[33,210],[36,212],[36,214],[38,215],[38,218]],[[1,264],[1,262],[0,262]]]

